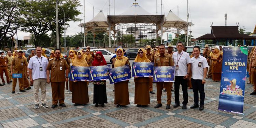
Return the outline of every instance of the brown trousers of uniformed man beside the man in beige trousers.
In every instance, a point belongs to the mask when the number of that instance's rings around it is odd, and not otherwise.
[[[64,103],[65,99],[65,82],[51,82],[53,104]]]

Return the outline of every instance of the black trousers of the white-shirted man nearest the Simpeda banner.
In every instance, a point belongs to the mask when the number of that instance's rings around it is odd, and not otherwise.
[[[193,92],[194,92],[194,102],[198,104],[198,91],[200,93],[200,105],[204,105],[204,84],[202,84],[202,80],[191,79]]]

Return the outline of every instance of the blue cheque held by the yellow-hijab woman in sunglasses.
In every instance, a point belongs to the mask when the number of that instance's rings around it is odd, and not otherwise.
[[[132,62],[132,76],[153,77],[154,62]]]

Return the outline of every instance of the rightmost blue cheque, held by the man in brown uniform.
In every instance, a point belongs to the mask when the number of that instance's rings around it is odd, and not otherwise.
[[[174,82],[174,66],[154,67],[154,82]]]

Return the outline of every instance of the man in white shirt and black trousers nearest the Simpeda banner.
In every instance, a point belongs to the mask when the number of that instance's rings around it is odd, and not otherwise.
[[[204,83],[206,81],[206,74],[208,71],[207,59],[200,55],[200,47],[195,46],[193,48],[194,57],[191,58],[192,76],[191,83],[194,92],[194,105],[190,106],[191,109],[198,108],[198,91],[200,93],[200,107],[199,110],[203,110],[204,105]]]

